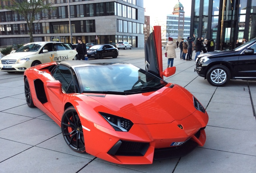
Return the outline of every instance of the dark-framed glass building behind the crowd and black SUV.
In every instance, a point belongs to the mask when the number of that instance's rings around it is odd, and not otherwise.
[[[256,0],[192,0],[190,33],[213,39],[215,50],[256,37]]]

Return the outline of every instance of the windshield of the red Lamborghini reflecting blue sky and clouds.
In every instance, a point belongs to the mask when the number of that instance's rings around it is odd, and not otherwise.
[[[157,91],[167,82],[131,64],[76,67],[83,93],[146,93]]]

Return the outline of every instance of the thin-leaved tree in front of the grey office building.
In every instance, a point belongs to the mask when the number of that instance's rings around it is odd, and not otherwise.
[[[22,15],[26,22],[27,28],[29,28],[30,42],[33,42],[33,22],[37,13],[47,10],[50,12],[50,6],[52,4],[46,3],[48,0],[5,0],[10,2],[10,6],[4,6],[7,10],[17,11]]]

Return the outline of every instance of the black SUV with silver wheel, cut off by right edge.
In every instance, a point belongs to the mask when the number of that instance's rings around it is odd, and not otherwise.
[[[230,79],[256,80],[256,38],[234,50],[200,54],[195,71],[216,87]]]

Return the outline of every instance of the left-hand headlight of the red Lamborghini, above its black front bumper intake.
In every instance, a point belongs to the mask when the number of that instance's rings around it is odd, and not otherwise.
[[[99,114],[116,130],[127,132],[132,128],[132,121],[118,117],[115,115],[111,115],[108,113],[99,112]]]

